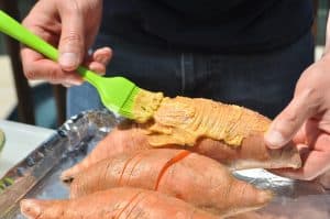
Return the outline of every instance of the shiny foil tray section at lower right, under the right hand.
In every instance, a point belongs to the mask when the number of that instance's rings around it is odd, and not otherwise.
[[[275,194],[270,205],[242,215],[242,219],[330,219],[330,190],[317,182],[298,182],[265,169],[239,171],[234,175]]]

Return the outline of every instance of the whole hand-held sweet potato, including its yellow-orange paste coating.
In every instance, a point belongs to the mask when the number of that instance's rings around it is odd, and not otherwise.
[[[164,98],[154,118],[144,124],[121,124],[64,179],[107,157],[153,147],[187,149],[212,157],[232,169],[301,166],[297,149],[289,143],[270,150],[264,132],[271,120],[252,110],[207,99]]]

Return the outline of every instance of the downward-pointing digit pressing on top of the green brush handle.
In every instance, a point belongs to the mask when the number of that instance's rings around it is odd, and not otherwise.
[[[76,10],[66,10],[61,15],[62,34],[58,45],[58,63],[64,70],[72,72],[85,57],[84,21]]]

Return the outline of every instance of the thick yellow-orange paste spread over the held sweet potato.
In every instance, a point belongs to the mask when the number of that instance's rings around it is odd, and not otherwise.
[[[194,146],[199,138],[241,145],[244,138],[264,133],[271,121],[243,107],[197,98],[163,98],[153,120],[143,124],[153,146]]]

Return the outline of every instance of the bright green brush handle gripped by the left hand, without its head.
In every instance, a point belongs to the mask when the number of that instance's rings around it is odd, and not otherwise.
[[[54,46],[30,32],[2,10],[0,10],[0,31],[53,61],[58,59],[58,51]],[[79,66],[77,72],[92,85],[96,85],[100,78],[99,75],[82,66]]]

